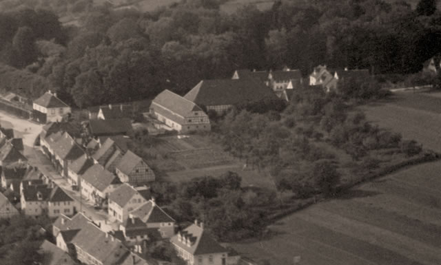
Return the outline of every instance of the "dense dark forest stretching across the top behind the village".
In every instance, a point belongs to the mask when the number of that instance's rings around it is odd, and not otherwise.
[[[405,1],[276,1],[270,10],[245,6],[233,14],[220,12],[218,0],[147,13],[92,1],[34,2],[3,3],[0,86],[31,98],[52,89],[79,108],[153,98],[163,89],[184,94],[201,79],[230,78],[241,68],[288,65],[306,76],[326,63],[409,74],[441,49],[433,0],[415,10]],[[66,13],[80,25],[61,25]]]

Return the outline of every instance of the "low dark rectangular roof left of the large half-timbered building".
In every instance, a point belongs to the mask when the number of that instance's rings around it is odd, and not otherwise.
[[[90,134],[93,136],[112,136],[130,134],[132,132],[132,123],[128,118],[119,118],[113,120],[89,120]]]

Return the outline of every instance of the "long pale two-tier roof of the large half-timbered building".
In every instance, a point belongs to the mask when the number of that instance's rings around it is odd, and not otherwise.
[[[190,112],[202,112],[202,109],[192,101],[167,89],[154,98],[150,108],[181,125],[186,123],[185,116]]]

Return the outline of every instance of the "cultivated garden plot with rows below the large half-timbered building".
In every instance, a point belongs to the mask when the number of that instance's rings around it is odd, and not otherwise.
[[[156,157],[150,160],[161,172],[163,180],[181,182],[195,177],[217,177],[227,171],[234,171],[242,177],[244,187],[274,187],[274,181],[267,173],[257,169],[243,170],[243,162],[229,155],[208,138],[192,135],[189,138],[177,136],[156,137],[152,147],[146,150]]]

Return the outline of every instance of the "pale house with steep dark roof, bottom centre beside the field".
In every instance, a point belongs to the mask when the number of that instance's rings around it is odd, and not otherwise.
[[[203,223],[188,226],[170,240],[179,257],[189,265],[227,265],[228,251],[218,244]]]

